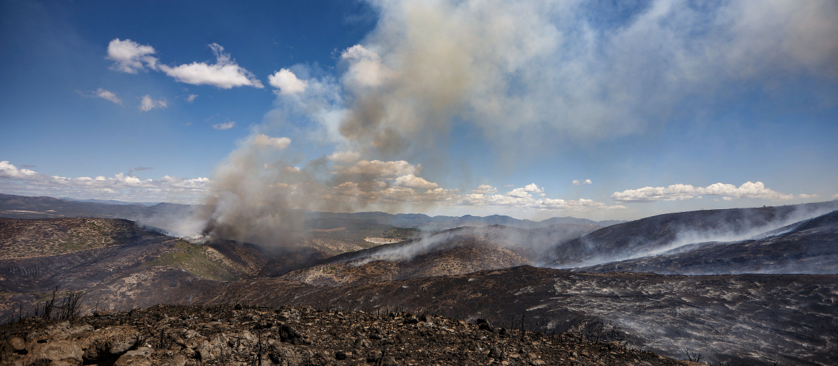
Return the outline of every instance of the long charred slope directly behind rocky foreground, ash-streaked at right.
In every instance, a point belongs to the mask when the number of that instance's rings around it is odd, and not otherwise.
[[[116,309],[157,303],[403,308],[499,326],[628,337],[670,357],[684,350],[731,364],[835,364],[838,276],[664,276],[536,267],[314,287],[282,278],[213,282],[165,267],[139,268],[85,293]],[[137,281],[142,278],[142,281]],[[189,286],[184,286],[189,284]],[[608,338],[608,340],[612,340]]]

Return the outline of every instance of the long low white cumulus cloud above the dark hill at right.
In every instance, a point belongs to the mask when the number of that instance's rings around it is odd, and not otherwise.
[[[695,196],[723,196],[722,200],[731,201],[739,198],[760,198],[771,201],[786,201],[794,199],[794,195],[773,191],[765,187],[763,182],[747,181],[742,186],[716,183],[706,187],[676,184],[668,187],[644,187],[637,190],[614,192],[611,199],[621,203],[646,203],[654,201],[689,200]],[[798,196],[804,198],[803,196]],[[805,195],[805,197],[810,197]],[[714,199],[713,201],[717,201]]]

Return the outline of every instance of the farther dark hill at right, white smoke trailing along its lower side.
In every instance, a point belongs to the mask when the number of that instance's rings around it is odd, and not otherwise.
[[[694,243],[741,241],[835,209],[838,201],[651,216],[604,227],[569,241],[556,248],[555,260],[549,265],[585,267],[650,257]]]

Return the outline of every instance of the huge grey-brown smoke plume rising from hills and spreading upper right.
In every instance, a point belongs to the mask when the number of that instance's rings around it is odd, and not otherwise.
[[[296,65],[269,78],[278,107],[216,170],[211,235],[276,242],[298,226],[292,209],[456,199],[441,187],[419,195],[396,186],[391,170],[353,170],[404,162],[416,178],[420,165],[407,160],[444,156],[438,141],[454,121],[475,126],[476,138],[514,161],[549,145],[637,133],[664,123],[682,100],[712,102],[730,85],[838,76],[838,5],[827,0],[704,8],[658,0],[630,17],[576,1],[370,5],[375,30],[339,53],[337,75]],[[282,149],[255,145],[263,130],[289,124],[335,153],[294,166],[277,155]]]

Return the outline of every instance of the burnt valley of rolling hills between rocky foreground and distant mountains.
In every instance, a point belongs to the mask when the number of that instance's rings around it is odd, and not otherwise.
[[[115,218],[0,219],[0,318],[31,313],[57,287],[82,293],[83,314],[158,304],[401,311],[670,358],[833,364],[835,205],[444,230],[325,215],[282,247],[194,241]]]

